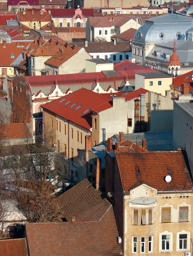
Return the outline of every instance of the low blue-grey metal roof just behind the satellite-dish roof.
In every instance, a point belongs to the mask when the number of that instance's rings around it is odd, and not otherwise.
[[[142,146],[142,139],[146,139],[146,149],[149,151],[173,150],[173,131],[150,131],[124,134],[124,140],[130,140]],[[119,142],[119,134],[113,136],[113,141]]]

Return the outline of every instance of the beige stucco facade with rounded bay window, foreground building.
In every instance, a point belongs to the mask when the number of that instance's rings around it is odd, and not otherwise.
[[[136,198],[140,201],[144,196],[143,202],[146,204],[135,204],[133,201]],[[171,207],[170,221],[167,223],[162,223],[164,207]],[[187,221],[180,222],[179,207],[188,207]],[[124,255],[182,256],[184,252],[190,252],[190,239],[193,236],[192,207],[193,192],[162,193],[145,184],[132,189],[130,195],[124,196]],[[138,210],[137,224],[133,219],[134,210]],[[143,224],[142,215],[145,216]],[[180,234],[187,235],[187,246],[184,244],[184,249],[179,248]],[[165,237],[162,236],[167,236],[169,247],[165,246],[165,241],[162,241]]]

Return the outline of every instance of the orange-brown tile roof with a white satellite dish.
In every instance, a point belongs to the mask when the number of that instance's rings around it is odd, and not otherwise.
[[[151,151],[138,153],[115,152],[124,191],[139,182],[148,183],[158,191],[193,191],[182,151]],[[136,174],[136,166],[139,174]],[[168,171],[171,169],[171,173]],[[172,177],[171,182],[165,176]]]

